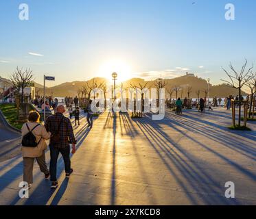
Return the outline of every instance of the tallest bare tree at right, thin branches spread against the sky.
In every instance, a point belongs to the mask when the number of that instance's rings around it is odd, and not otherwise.
[[[252,76],[249,75],[251,73],[251,70],[253,69],[253,66],[251,68],[248,68],[248,70],[245,70],[247,66],[247,60],[245,60],[244,65],[242,66],[242,69],[240,70],[240,73],[237,73],[237,70],[233,68],[232,64],[230,63],[229,67],[233,71],[233,75],[228,73],[227,70],[225,70],[223,67],[222,69],[228,75],[230,81],[223,80],[226,83],[229,83],[233,88],[238,90],[238,96],[239,96],[239,113],[238,113],[238,126],[241,126],[241,93],[243,86],[251,80]]]

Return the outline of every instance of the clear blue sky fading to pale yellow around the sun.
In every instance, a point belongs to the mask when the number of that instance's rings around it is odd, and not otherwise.
[[[28,21],[19,19],[21,3]],[[38,83],[55,76],[54,86],[113,71],[119,81],[189,72],[218,84],[222,66],[256,62],[255,17],[253,0],[1,0],[0,76],[31,68]]]

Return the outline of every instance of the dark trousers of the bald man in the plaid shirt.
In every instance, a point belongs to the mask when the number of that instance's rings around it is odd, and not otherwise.
[[[51,175],[51,181],[57,181],[57,161],[58,161],[58,155],[61,153],[64,164],[65,164],[65,172],[69,173],[71,171],[71,162],[70,162],[70,148],[67,146],[64,149],[58,149],[54,147],[53,145],[49,145],[50,148],[50,155],[51,155],[51,162],[50,162],[50,175]]]

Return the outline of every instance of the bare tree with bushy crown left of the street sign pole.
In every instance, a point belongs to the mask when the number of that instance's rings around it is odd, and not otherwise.
[[[24,89],[26,87],[32,86],[33,83],[33,75],[32,70],[26,69],[25,71],[16,68],[16,71],[11,75],[10,80],[12,81],[12,86],[17,90],[17,92],[21,92],[21,103],[24,102]]]

